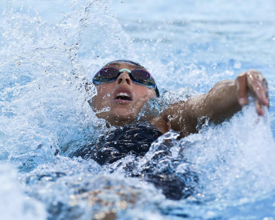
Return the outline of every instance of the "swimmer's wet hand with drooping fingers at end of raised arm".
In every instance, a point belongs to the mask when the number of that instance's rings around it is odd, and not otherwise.
[[[266,79],[257,70],[248,70],[236,78],[237,98],[241,106],[248,103],[248,90],[256,99],[256,111],[258,115],[264,115],[263,106],[269,107],[268,85]]]

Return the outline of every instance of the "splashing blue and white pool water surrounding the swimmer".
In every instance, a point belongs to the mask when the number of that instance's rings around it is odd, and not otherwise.
[[[274,1],[18,0],[0,12],[2,219],[275,218]],[[270,109],[259,117],[250,100],[220,125],[160,137],[144,158],[69,158],[107,130],[84,85],[120,58],[152,72],[162,95],[148,104],[160,111],[249,68],[266,77]],[[199,183],[187,199],[165,199],[127,176],[131,162],[136,172],[193,171]]]

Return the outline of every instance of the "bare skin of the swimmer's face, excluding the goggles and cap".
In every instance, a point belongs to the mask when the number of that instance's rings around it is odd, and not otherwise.
[[[131,71],[134,69],[146,70],[140,66],[126,62],[112,63],[105,67],[113,67],[118,70],[125,68]],[[97,113],[96,115],[99,118],[105,119],[111,125],[120,126],[131,123],[138,117],[146,101],[152,97],[156,97],[154,89],[132,82],[126,71],[122,72],[116,81],[105,82],[95,85],[95,87],[97,88],[97,95],[92,100],[93,110],[98,112],[103,108],[110,107],[110,111]],[[119,99],[121,93],[126,93],[127,95],[123,94],[123,99]],[[125,98],[125,96],[128,97]]]

